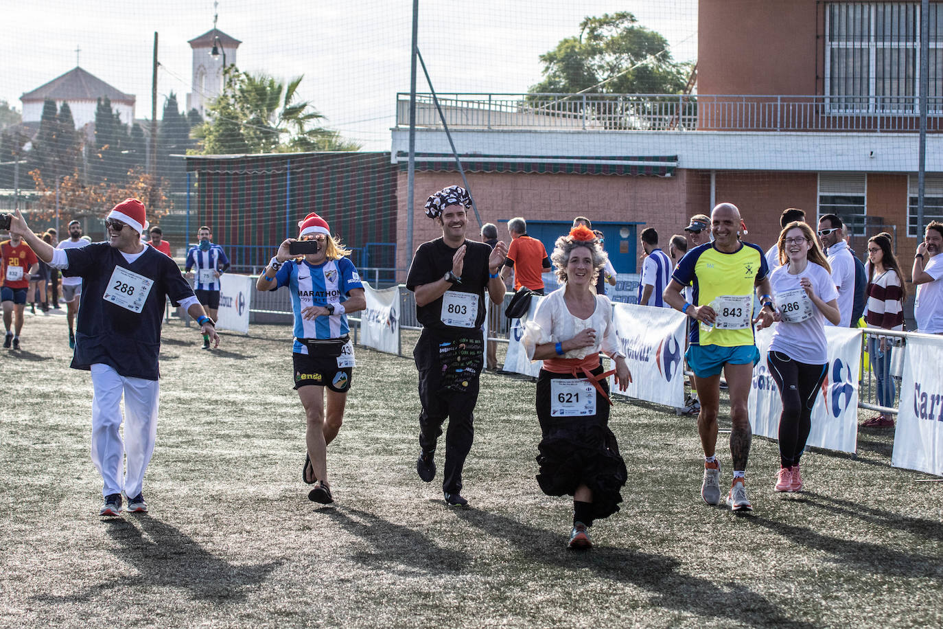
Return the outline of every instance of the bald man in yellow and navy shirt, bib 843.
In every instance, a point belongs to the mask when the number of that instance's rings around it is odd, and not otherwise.
[[[772,321],[769,269],[763,250],[740,240],[743,222],[734,204],[721,203],[711,211],[713,242],[689,249],[671,275],[665,302],[690,318],[685,353],[694,372],[701,398],[698,432],[704,454],[701,496],[708,505],[720,504],[720,460],[716,455],[720,409],[720,373],[730,390],[730,453],[734,482],[727,505],[734,511],[752,511],[747,497],[746,468],[753,432],[747,413],[747,398],[753,379],[753,365],[759,351],[753,325]],[[693,286],[688,302],[681,292]],[[753,317],[753,294],[759,297],[760,311]]]

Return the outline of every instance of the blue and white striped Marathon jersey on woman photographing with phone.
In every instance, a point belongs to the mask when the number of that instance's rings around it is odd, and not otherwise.
[[[291,260],[275,273],[277,284],[272,290],[283,286],[291,291],[291,310],[294,312],[294,348],[296,354],[307,354],[307,347],[298,339],[338,339],[350,332],[347,315],[336,314],[306,320],[301,311],[307,306],[342,304],[350,291],[362,289],[360,275],[354,263],[346,257],[326,260],[312,265],[306,261]]]

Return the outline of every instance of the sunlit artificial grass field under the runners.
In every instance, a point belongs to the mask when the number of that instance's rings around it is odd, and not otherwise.
[[[307,500],[290,327],[199,349],[168,323],[149,515],[101,519],[89,458],[91,378],[68,367],[65,317],[26,316],[0,350],[2,626],[940,626],[940,483],[890,467],[892,431],[857,457],[803,457],[775,494],[775,442],[753,439],[755,511],[703,504],[695,421],[617,403],[622,510],[565,548],[571,502],[534,476],[534,384],[487,372],[463,494],[415,472],[411,358],[357,348],[335,504]],[[128,348],[133,351],[133,348]],[[408,356],[411,344],[404,344]],[[721,415],[723,410],[721,409]],[[863,414],[864,417],[864,414]],[[721,422],[721,427],[723,427]],[[720,436],[722,483],[730,455]]]

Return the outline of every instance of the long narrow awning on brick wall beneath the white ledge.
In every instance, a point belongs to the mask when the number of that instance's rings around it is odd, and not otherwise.
[[[408,154],[401,151],[396,161],[401,171],[408,168]],[[670,177],[678,167],[678,156],[646,157],[545,157],[510,155],[462,155],[466,173],[563,173],[635,174]],[[457,172],[451,153],[417,153],[416,170]]]

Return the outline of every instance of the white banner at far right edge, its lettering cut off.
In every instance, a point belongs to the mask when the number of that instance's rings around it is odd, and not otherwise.
[[[937,362],[943,338],[910,337],[906,348],[893,351],[905,351],[906,360],[890,463],[943,476],[943,377]]]

